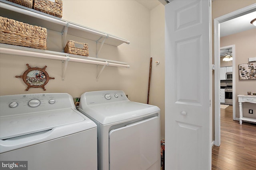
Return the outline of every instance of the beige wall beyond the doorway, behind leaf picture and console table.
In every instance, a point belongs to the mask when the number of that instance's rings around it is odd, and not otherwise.
[[[236,77],[236,95],[233,96],[233,100],[236,101],[236,117],[239,117],[237,95],[247,94],[247,92],[256,93],[256,80],[239,80],[238,70],[238,64],[248,63],[248,58],[256,56],[256,28],[221,37],[220,47],[228,45],[235,45],[235,72],[233,72],[233,76]],[[248,108],[256,110],[255,104],[243,104],[243,113],[245,113],[244,116],[256,118],[256,114],[248,114]]]

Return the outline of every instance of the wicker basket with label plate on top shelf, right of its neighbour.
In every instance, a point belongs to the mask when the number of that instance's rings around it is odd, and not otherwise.
[[[33,9],[62,18],[62,0],[34,0]]]

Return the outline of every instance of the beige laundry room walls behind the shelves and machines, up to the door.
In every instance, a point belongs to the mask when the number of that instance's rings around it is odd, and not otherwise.
[[[134,0],[64,0],[62,19],[130,41],[129,45],[123,43],[118,47],[104,45],[99,54],[99,58],[127,62],[130,68],[106,67],[97,82],[97,70],[102,66],[69,62],[62,81],[61,61],[1,54],[0,95],[67,92],[79,97],[94,90],[124,90],[130,100],[146,103],[149,63],[153,57],[149,103],[161,109],[164,138],[164,6],[160,4],[150,12]],[[47,49],[61,52],[61,37],[61,33],[48,30]],[[71,35],[68,39],[88,43],[90,57],[96,56],[94,41]],[[55,79],[49,80],[46,91],[42,88],[25,91],[26,84],[15,78],[23,74],[27,63],[31,67],[47,66],[46,71]]]

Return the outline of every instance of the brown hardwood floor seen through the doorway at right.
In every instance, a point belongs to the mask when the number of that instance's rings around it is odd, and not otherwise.
[[[220,147],[212,149],[212,170],[256,170],[256,124],[232,119],[232,106],[220,109]]]

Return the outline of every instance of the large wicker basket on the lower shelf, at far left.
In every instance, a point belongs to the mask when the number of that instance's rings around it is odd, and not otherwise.
[[[46,50],[46,28],[2,16],[0,24],[0,43]]]

